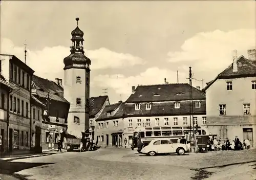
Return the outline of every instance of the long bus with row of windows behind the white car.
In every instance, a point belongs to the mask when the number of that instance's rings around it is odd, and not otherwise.
[[[209,136],[206,127],[197,126],[194,128],[197,136]],[[148,145],[152,140],[161,138],[170,138],[173,143],[177,143],[179,138],[185,138],[187,142],[190,141],[190,133],[193,136],[193,127],[136,127],[133,134],[132,150],[140,150]]]

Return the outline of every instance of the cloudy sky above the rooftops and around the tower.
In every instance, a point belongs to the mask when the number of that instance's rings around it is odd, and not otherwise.
[[[1,54],[13,54],[35,74],[63,78],[71,31],[84,32],[92,60],[91,96],[108,88],[125,101],[132,86],[210,81],[232,63],[232,50],[255,49],[254,1],[1,1]],[[202,81],[193,81],[201,86]],[[205,84],[204,84],[205,86]]]

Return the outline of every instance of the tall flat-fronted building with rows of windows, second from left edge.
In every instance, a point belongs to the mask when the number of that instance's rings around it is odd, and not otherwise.
[[[31,77],[34,71],[13,55],[1,55],[2,75],[13,91],[9,94],[8,150],[31,148]]]

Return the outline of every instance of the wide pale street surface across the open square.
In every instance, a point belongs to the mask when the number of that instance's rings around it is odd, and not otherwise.
[[[82,153],[57,153],[9,163],[10,166],[16,164],[13,172],[23,179],[211,180],[255,179],[255,160],[256,150],[145,156],[130,149],[105,148]]]

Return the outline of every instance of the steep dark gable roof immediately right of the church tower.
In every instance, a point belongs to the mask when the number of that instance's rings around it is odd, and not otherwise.
[[[99,112],[107,99],[109,99],[108,96],[98,96],[90,98],[90,117],[94,117]]]

